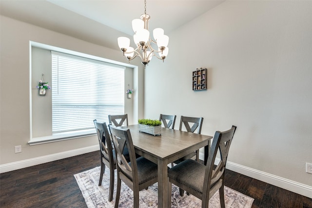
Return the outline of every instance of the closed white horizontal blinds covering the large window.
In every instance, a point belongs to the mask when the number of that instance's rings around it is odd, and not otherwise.
[[[52,132],[124,114],[124,67],[52,51]]]

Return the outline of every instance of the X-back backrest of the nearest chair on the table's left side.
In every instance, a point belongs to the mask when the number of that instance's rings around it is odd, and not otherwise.
[[[133,146],[130,130],[128,128],[116,127],[111,124],[109,125],[109,128],[115,146],[116,164],[119,174],[122,174],[126,176],[128,179],[130,179],[130,183],[138,184],[136,153],[135,147]],[[127,156],[124,155],[125,148],[128,148],[131,166],[126,160]],[[125,178],[122,176],[120,177]]]

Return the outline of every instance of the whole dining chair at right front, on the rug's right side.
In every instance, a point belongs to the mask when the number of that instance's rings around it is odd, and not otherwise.
[[[170,168],[168,170],[168,191],[171,192],[171,185],[175,184],[180,188],[180,191],[182,190],[184,192],[184,190],[186,190],[188,193],[201,199],[202,208],[208,208],[209,199],[219,190],[221,208],[225,208],[225,166],[235,130],[236,126],[233,125],[232,128],[227,131],[215,132],[206,166],[195,160],[188,159]],[[214,166],[218,150],[220,153],[220,161],[217,166]]]

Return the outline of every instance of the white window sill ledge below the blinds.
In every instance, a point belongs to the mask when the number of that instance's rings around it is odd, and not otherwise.
[[[93,136],[96,134],[97,132],[95,129],[55,133],[51,136],[31,138],[28,144],[30,146],[41,145],[41,144],[46,144],[46,143],[51,143],[51,142],[59,142],[59,141],[64,141],[64,140],[77,139],[81,137],[88,137],[88,136]]]

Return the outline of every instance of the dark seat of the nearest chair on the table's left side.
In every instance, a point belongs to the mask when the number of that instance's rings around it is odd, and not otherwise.
[[[131,163],[129,163],[131,165]],[[157,177],[157,164],[144,157],[137,158],[138,184],[143,184]],[[128,175],[130,179],[131,176]]]

